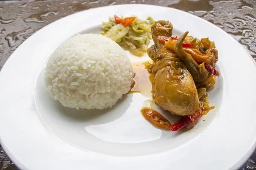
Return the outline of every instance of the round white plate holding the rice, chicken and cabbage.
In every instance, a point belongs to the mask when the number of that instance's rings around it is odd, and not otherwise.
[[[153,12],[154,11],[154,12]],[[77,111],[44,89],[47,58],[77,33],[96,33],[114,14],[169,20],[174,34],[210,37],[219,52],[210,111],[191,132],[159,130],[143,119],[140,94],[104,111]],[[129,54],[132,61],[146,60]],[[0,142],[23,170],[237,169],[256,146],[256,67],[236,40],[211,23],[172,8],[120,5],[64,17],[27,39],[0,72]],[[84,114],[87,112],[87,114]]]

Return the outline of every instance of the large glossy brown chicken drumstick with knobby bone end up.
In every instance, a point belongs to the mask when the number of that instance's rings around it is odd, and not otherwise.
[[[172,24],[157,21],[151,31],[155,45],[148,48],[148,56],[154,61],[151,79],[154,102],[175,115],[192,114],[199,107],[193,78],[182,60],[157,40],[157,36],[172,36]]]

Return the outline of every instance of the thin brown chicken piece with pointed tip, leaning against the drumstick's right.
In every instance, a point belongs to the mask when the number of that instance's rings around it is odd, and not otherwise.
[[[174,50],[175,54],[185,63],[186,68],[189,70],[190,74],[192,75],[195,84],[197,87],[206,84],[209,82],[209,78],[211,77],[211,73],[207,71],[204,67],[204,63],[200,65],[192,58],[192,56],[184,51],[182,47],[182,43],[185,40],[187,34],[189,32],[186,31],[176,42]],[[214,60],[215,62],[215,60]]]

